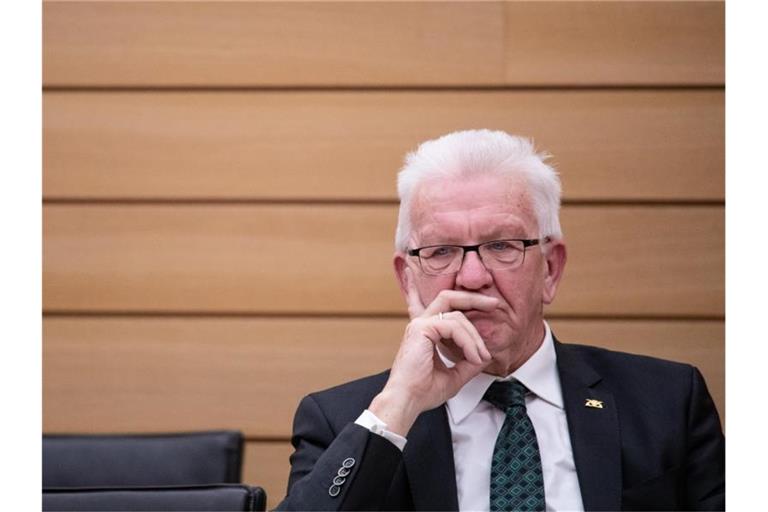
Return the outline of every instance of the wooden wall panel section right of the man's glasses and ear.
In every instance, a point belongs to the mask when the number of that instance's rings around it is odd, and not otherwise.
[[[569,261],[552,313],[721,316],[721,207],[566,207]]]

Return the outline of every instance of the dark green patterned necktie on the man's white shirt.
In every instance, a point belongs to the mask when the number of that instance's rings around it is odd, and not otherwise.
[[[491,512],[544,510],[544,477],[536,431],[525,411],[528,389],[496,381],[483,396],[506,414],[491,465]]]

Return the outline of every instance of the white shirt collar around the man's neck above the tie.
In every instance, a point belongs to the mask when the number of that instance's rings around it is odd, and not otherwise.
[[[438,354],[449,368],[454,365],[438,350]],[[557,355],[552,339],[552,331],[549,324],[544,322],[544,340],[538,350],[517,370],[501,379],[496,375],[480,373],[473,377],[462,387],[458,393],[446,402],[448,412],[454,423],[460,423],[469,416],[477,404],[483,399],[483,395],[495,380],[515,379],[522,382],[531,393],[563,408],[563,392],[560,389],[560,375],[557,373]]]

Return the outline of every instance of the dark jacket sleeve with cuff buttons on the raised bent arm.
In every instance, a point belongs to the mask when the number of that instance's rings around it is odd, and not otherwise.
[[[309,395],[296,411],[288,494],[276,510],[379,510],[402,453],[355,423],[334,432]]]

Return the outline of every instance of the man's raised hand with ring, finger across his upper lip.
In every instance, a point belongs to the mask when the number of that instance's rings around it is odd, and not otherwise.
[[[498,306],[494,297],[443,290],[424,307],[411,270],[406,269],[405,273],[411,322],[405,329],[389,380],[369,406],[389,430],[402,436],[419,414],[454,396],[491,361],[485,342],[462,311],[492,311]],[[441,341],[452,344],[463,355],[452,368],[437,354],[435,345]]]

